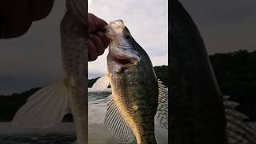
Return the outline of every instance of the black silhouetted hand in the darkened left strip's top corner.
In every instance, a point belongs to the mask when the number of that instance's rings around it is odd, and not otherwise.
[[[0,39],[25,34],[33,21],[46,18],[54,0],[2,0],[0,4]]]

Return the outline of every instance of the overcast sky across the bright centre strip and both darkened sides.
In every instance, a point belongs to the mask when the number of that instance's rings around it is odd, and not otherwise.
[[[209,54],[256,50],[256,1],[180,0],[202,34]],[[167,63],[167,0],[90,0],[90,12],[107,22],[123,19],[154,66]],[[62,78],[59,23],[65,1],[19,38],[0,41],[0,94],[22,92]],[[89,64],[89,77],[106,72],[106,53]]]

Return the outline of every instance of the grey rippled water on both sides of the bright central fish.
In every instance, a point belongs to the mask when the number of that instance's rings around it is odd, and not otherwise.
[[[105,92],[90,91],[88,98],[89,110],[89,143],[90,144],[119,144],[102,125],[104,115],[106,114],[106,103],[110,90]],[[168,130],[162,128],[158,122],[155,122],[155,137],[158,144],[168,143]],[[135,144],[137,142],[132,142]]]

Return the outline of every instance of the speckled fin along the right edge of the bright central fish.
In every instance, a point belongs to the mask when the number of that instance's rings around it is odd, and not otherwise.
[[[156,114],[156,120],[160,122],[160,126],[168,129],[168,89],[158,79],[158,111]]]

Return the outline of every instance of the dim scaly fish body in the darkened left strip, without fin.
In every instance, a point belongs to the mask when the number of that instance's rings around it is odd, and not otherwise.
[[[62,66],[66,78],[70,81],[70,107],[77,130],[77,143],[88,143],[87,119],[87,50],[86,38],[82,34],[84,26],[78,25],[72,14],[66,14],[62,20]],[[80,27],[79,27],[80,26]],[[86,31],[86,30],[85,30]]]

